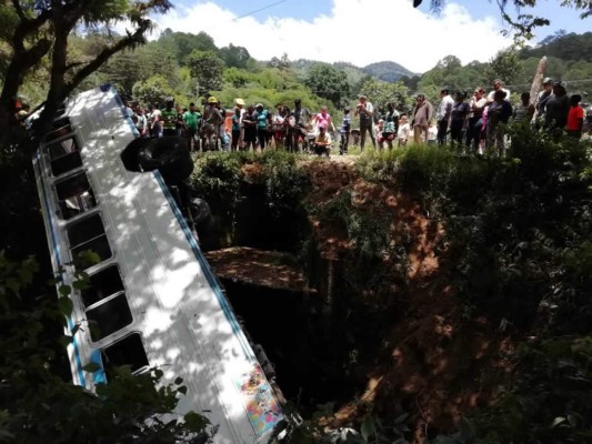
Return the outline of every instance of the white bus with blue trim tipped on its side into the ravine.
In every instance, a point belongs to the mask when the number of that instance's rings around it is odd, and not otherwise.
[[[283,422],[278,398],[162,174],[126,169],[138,133],[117,92],[69,99],[53,127],[33,160],[53,268],[71,284],[78,253],[100,258],[90,289],[70,295],[74,384],[158,366],[188,387],[175,413],[204,414],[215,443],[267,442]]]

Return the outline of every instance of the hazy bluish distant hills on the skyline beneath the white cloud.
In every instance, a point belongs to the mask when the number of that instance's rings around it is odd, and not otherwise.
[[[291,62],[292,70],[297,73],[300,79],[304,79],[307,73],[313,64],[324,63],[314,60],[299,59]],[[385,82],[395,82],[401,79],[403,75],[413,77],[417,73],[408,70],[405,67],[391,62],[382,61],[377,63],[371,63],[364,68],[357,67],[348,62],[335,62],[335,63],[325,63],[339,70],[342,70],[348,75],[348,81],[352,84],[360,82],[364,77],[370,75]]]

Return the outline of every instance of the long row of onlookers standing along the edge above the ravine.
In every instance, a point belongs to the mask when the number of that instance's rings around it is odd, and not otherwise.
[[[187,138],[192,151],[208,150],[264,150],[285,149],[291,152],[315,152],[329,155],[333,144],[345,154],[353,139],[363,150],[367,139],[374,149],[393,149],[414,144],[452,144],[465,153],[484,151],[504,155],[506,128],[510,122],[528,122],[544,128],[553,137],[566,133],[581,138],[592,132],[592,107],[582,103],[580,94],[568,95],[563,82],[551,78],[543,80],[543,90],[535,100],[529,92],[520,95],[520,103],[512,105],[510,91],[500,79],[493,81],[491,91],[482,87],[469,98],[465,91],[440,91],[440,102],[433,105],[424,94],[414,97],[414,107],[400,112],[394,103],[377,109],[365,94],[359,95],[353,115],[345,107],[341,121],[335,124],[328,107],[311,112],[300,99],[293,108],[280,104],[269,109],[263,103],[247,105],[235,99],[230,109],[210,97],[199,110],[194,103],[182,109],[172,99],[163,109],[150,105],[127,105],[140,137],[179,135]],[[359,129],[353,129],[358,118]]]

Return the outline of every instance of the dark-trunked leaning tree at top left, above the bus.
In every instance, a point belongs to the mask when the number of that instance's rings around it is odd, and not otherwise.
[[[12,54],[8,63],[0,94],[0,124],[14,119],[14,100],[27,73],[49,56],[51,72],[48,95],[37,130],[46,132],[49,122],[68,94],[88,75],[97,71],[110,57],[128,48],[144,43],[151,29],[150,13],[164,13],[171,8],[168,0],[39,0],[3,3],[3,11],[16,14],[10,31]],[[7,11],[9,9],[9,11]],[[69,58],[69,37],[76,28],[98,30],[116,21],[128,20],[132,29],[126,36],[111,34],[97,56],[88,61],[72,62]]]

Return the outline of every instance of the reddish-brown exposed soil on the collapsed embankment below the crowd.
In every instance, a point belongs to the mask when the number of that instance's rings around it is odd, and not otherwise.
[[[257,175],[257,168],[250,168],[249,172]],[[488,404],[509,376],[506,356],[511,341],[482,317],[463,317],[451,284],[454,263],[443,242],[443,228],[427,216],[419,199],[364,181],[350,158],[314,161],[304,168],[312,181],[308,196],[311,202],[322,204],[349,189],[354,205],[369,209],[378,205],[390,212],[391,238],[405,235],[411,245],[407,311],[393,315],[395,321],[385,336],[375,339],[383,344],[380,354],[359,363],[357,375],[365,385],[364,393],[341,406],[333,417],[327,417],[327,425],[359,425],[372,407],[387,418],[384,425],[389,425],[389,417],[394,422],[400,414],[411,413],[414,440],[419,443],[427,436],[451,432],[470,408]],[[342,228],[324,226],[318,220],[311,223],[321,256],[339,260],[352,246]],[[244,260],[243,264],[252,264],[242,269],[250,282],[294,289],[302,287],[304,282],[300,271],[289,270],[277,258],[241,250],[227,255],[225,261],[223,254],[218,259],[217,254],[209,253],[209,259],[219,273],[237,270],[237,261]]]

